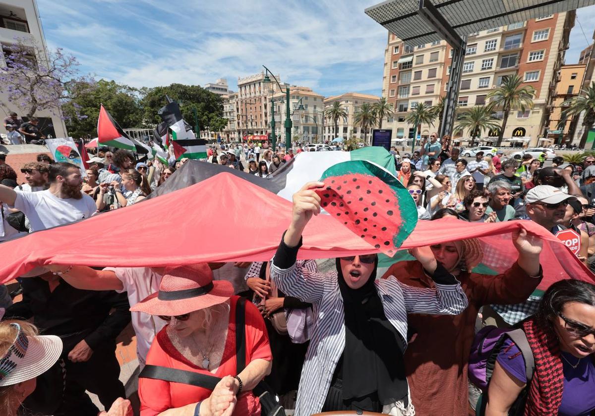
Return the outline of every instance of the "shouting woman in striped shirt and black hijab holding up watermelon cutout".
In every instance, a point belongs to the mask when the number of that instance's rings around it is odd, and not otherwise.
[[[314,307],[295,414],[358,410],[413,415],[403,362],[406,315],[461,313],[466,297],[429,248],[413,253],[435,288],[377,280],[376,254],[337,258],[337,270],[330,273],[297,267],[303,229],[320,213],[315,190],[322,187],[322,182],[309,182],[293,195],[292,222],[271,264],[271,279],[278,287]]]

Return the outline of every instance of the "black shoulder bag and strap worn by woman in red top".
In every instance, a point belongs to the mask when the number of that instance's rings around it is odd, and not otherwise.
[[[236,303],[236,371],[240,374],[246,367],[246,299],[239,298]],[[161,365],[145,365],[140,371],[139,378],[164,380],[166,382],[184,383],[186,385],[203,387],[214,390],[220,377],[195,373],[194,371],[178,370],[177,368],[162,367]],[[260,399],[262,416],[285,416],[285,410],[279,402],[278,396],[271,387],[261,381],[252,389]]]

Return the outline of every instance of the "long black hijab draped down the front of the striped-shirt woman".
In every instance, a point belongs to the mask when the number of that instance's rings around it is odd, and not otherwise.
[[[368,281],[359,289],[347,286],[341,260],[336,259],[336,264],[345,311],[343,399],[357,401],[377,393],[381,405],[402,400],[407,396],[404,341],[386,318],[374,284],[378,257]]]

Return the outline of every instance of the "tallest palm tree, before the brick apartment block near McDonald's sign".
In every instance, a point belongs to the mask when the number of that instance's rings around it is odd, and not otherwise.
[[[521,87],[522,82],[522,78],[516,74],[507,75],[502,78],[502,84],[499,87],[487,94],[486,98],[491,99],[490,104],[494,110],[502,110],[504,113],[496,147],[502,144],[502,137],[511,110],[520,109],[524,112],[525,108],[533,108],[533,97],[536,90],[531,86]]]

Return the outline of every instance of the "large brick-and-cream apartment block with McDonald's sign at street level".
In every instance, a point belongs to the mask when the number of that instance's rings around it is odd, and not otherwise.
[[[575,11],[552,14],[508,26],[471,33],[465,53],[458,111],[483,105],[487,94],[512,74],[522,77],[523,85],[536,90],[532,109],[515,109],[509,114],[504,132],[505,145],[535,146],[549,124],[547,103],[556,74],[568,49],[568,37],[574,26]],[[414,138],[415,127],[405,122],[408,111],[418,103],[434,105],[446,93],[452,61],[452,48],[445,41],[427,45],[405,45],[389,34],[384,60],[383,96],[394,106],[393,140]],[[502,118],[502,112],[497,114]],[[422,126],[422,137],[437,130]],[[484,132],[483,141],[495,140],[498,131]],[[462,144],[469,131],[456,135]]]

